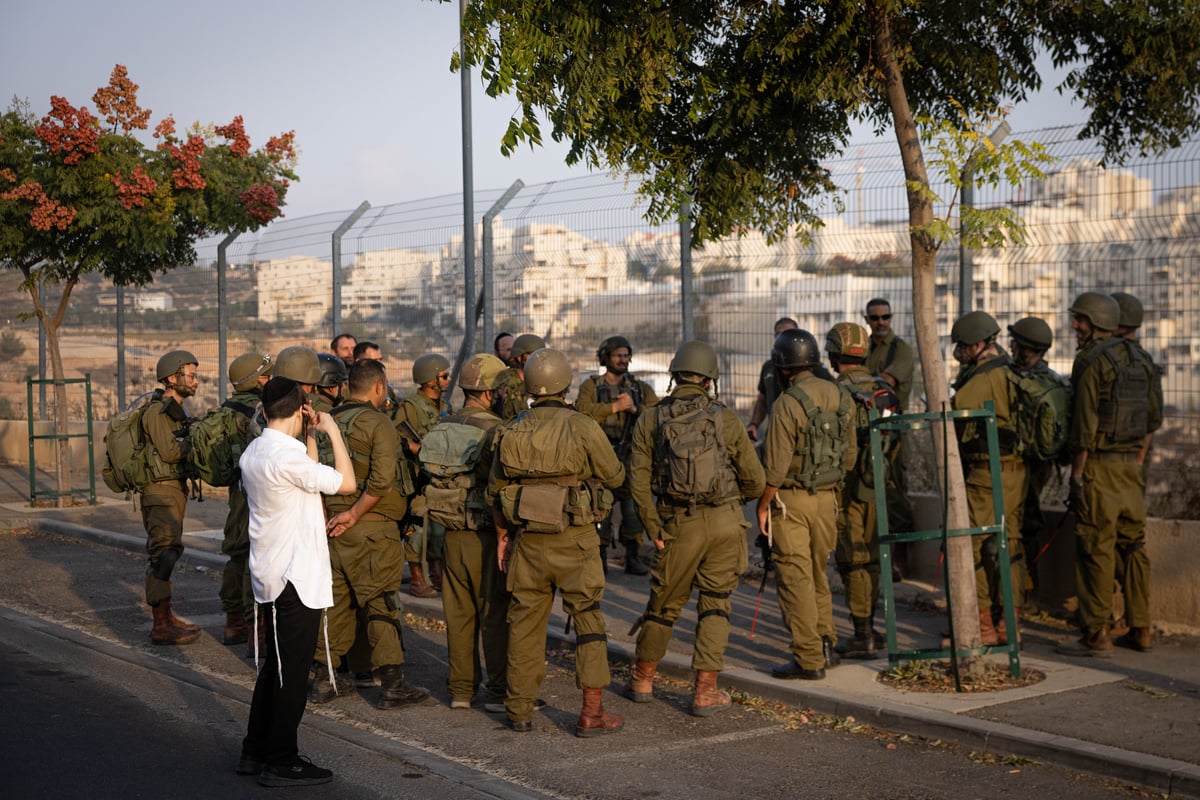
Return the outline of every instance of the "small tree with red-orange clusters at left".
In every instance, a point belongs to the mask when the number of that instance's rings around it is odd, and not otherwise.
[[[145,285],[192,264],[200,236],[253,230],[281,216],[295,180],[294,134],[252,150],[241,116],[181,137],[168,115],[150,146],[138,138],[151,112],[138,106],[137,91],[118,65],[92,95],[98,116],[56,96],[40,120],[28,101],[0,115],[0,263],[20,270],[46,331],[60,435],[67,401],[58,333],[83,276]],[[53,307],[42,302],[42,284],[61,289]],[[67,492],[66,439],[58,456],[59,492]]]

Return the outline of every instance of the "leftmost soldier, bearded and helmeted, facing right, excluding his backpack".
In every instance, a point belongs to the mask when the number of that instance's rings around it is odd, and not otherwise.
[[[155,390],[142,414],[150,482],[142,489],[142,524],[146,529],[146,603],[154,613],[154,644],[190,644],[200,636],[198,625],[170,610],[170,576],[184,554],[184,512],[187,509],[187,426],[182,402],[199,386],[199,361],[187,350],[172,350],[161,359],[156,374],[163,387]]]

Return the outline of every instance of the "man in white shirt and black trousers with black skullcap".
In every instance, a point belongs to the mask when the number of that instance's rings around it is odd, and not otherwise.
[[[334,774],[299,754],[296,729],[320,616],[334,604],[322,494],[354,492],[354,465],[337,423],[312,409],[300,384],[272,378],[263,410],[266,429],[239,463],[250,505],[251,582],[265,608],[268,644],[238,774],[257,774],[263,786],[328,783]],[[334,445],[334,468],[317,461],[317,431]]]

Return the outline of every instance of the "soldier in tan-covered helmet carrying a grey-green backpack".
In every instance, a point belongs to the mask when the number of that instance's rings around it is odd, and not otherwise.
[[[487,505],[496,426],[492,399],[504,385],[504,362],[491,355],[467,361],[458,375],[463,407],[433,427],[421,445],[426,515],[444,525],[442,608],[446,620],[450,708],[469,709],[487,667],[485,709],[504,712],[508,680],[509,593],[496,559],[496,524]]]

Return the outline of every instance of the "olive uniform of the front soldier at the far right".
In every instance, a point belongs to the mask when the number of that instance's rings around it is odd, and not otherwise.
[[[1118,407],[1117,363],[1138,360],[1147,371],[1147,397],[1142,421],[1122,425]],[[1079,619],[1085,636],[1108,625],[1112,614],[1112,585],[1121,576],[1124,615],[1132,628],[1150,630],[1150,557],[1146,555],[1146,482],[1139,451],[1145,437],[1163,420],[1157,369],[1141,348],[1129,339],[1094,338],[1075,356],[1068,446],[1087,452],[1082,492],[1075,509],[1075,583]]]

